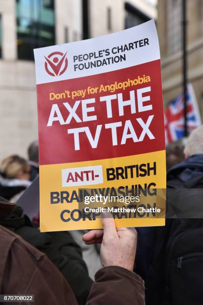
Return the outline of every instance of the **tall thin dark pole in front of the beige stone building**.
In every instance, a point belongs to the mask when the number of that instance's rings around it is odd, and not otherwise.
[[[183,6],[183,96],[184,96],[184,136],[188,136],[187,128],[187,0]]]

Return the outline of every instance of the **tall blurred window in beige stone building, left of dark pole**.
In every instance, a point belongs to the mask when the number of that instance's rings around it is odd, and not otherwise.
[[[182,45],[182,0],[167,1],[167,41],[168,54],[181,49]]]

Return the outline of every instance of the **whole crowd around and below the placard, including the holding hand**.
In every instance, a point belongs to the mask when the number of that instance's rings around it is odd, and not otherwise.
[[[164,227],[116,228],[106,212],[103,230],[40,233],[40,215],[29,219],[16,204],[39,175],[38,143],[27,160],[3,159],[0,294],[35,295],[39,305],[202,305],[203,126],[168,145],[166,164],[166,205],[175,212]]]

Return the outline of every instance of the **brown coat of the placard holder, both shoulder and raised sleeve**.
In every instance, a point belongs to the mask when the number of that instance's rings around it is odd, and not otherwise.
[[[5,207],[0,203],[0,216],[5,217]],[[9,208],[8,214],[13,207]],[[47,256],[2,226],[0,294],[35,295],[36,305],[77,304],[67,281]],[[143,281],[121,267],[102,268],[95,275],[87,305],[144,305]]]

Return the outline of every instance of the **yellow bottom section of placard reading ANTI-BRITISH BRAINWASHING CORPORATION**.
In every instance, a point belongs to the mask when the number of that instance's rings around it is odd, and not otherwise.
[[[155,163],[154,163],[155,162]],[[131,165],[136,165],[136,170],[131,169]],[[141,170],[145,164],[145,175],[144,171]],[[147,165],[148,164],[148,165]],[[155,170],[154,168],[155,164]],[[74,163],[63,163],[63,164],[51,164],[51,165],[40,165],[40,231],[65,231],[65,230],[81,230],[81,229],[96,229],[101,228],[101,219],[96,218],[95,220],[80,217],[78,211],[78,202],[75,199],[75,194],[78,194],[78,189],[92,189],[92,188],[119,188],[121,186],[124,189],[128,186],[129,189],[133,187],[146,188],[150,183],[153,183],[150,187],[157,189],[166,188],[166,167],[165,167],[165,151],[143,153],[132,156],[117,157],[111,159],[93,160],[85,162],[74,162]],[[63,178],[62,171],[68,168],[79,168],[89,167],[91,170],[92,166],[102,166],[103,172],[103,183],[100,184],[83,184],[74,186],[62,186]],[[125,167],[129,166],[129,167]],[[141,167],[140,167],[141,166]],[[107,180],[107,168],[116,168],[117,179]],[[123,170],[122,170],[123,168]],[[139,171],[140,168],[140,171]],[[148,170],[147,170],[148,168]],[[152,169],[150,169],[152,168]],[[111,172],[111,171],[110,171]],[[119,173],[123,172],[123,175]],[[116,174],[116,170],[115,170]],[[142,176],[140,176],[140,174]],[[68,177],[68,176],[67,176]],[[71,176],[72,177],[72,176]],[[69,178],[71,178],[69,176]],[[114,176],[111,175],[111,178]],[[115,176],[116,177],[116,176]],[[72,178],[73,179],[73,178]],[[77,179],[78,181],[79,179]],[[74,181],[70,180],[74,183]],[[66,182],[66,181],[65,181]],[[84,182],[83,182],[84,183]],[[88,182],[87,182],[88,183]],[[155,185],[155,186],[154,186]],[[53,195],[54,194],[54,195]],[[53,203],[51,203],[51,197]],[[54,199],[53,199],[54,198]],[[161,198],[161,199],[160,199]],[[67,202],[72,200],[72,202]],[[160,200],[159,200],[160,199]],[[158,207],[165,210],[165,194],[157,199]],[[59,203],[56,203],[60,201]],[[63,203],[62,203],[63,202]],[[139,204],[139,203],[138,203]],[[65,211],[66,210],[66,211]],[[73,217],[70,217],[71,211],[74,210]],[[65,211],[65,212],[64,212]],[[63,212],[63,217],[61,214]],[[64,220],[62,220],[62,218]],[[42,221],[43,220],[43,221]],[[117,227],[139,227],[139,226],[163,226],[165,225],[165,218],[116,218]]]

